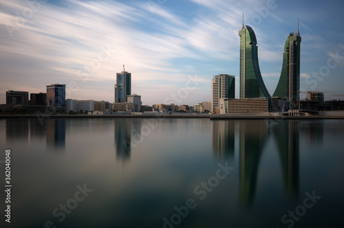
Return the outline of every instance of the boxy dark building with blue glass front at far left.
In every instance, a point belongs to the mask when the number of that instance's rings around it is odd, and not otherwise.
[[[65,84],[47,85],[47,105],[65,107]]]

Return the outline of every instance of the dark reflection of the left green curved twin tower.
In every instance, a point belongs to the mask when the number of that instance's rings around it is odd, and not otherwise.
[[[266,122],[239,122],[239,202],[243,206],[251,205],[254,199],[259,160],[267,139]]]

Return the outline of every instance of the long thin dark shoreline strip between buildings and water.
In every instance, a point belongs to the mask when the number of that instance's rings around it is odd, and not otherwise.
[[[344,116],[289,116],[289,115],[0,115],[0,119],[99,119],[99,118],[203,118],[203,119],[344,119]]]

